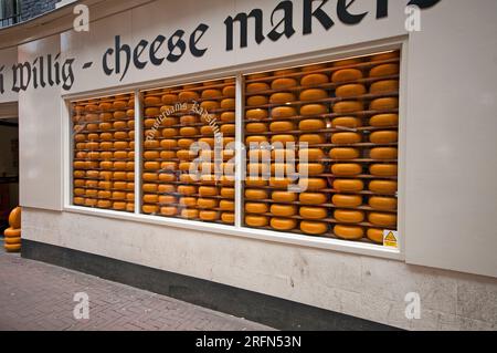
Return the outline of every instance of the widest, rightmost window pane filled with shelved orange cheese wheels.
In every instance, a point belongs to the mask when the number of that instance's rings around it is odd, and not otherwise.
[[[244,80],[245,226],[382,245],[398,228],[400,52]]]

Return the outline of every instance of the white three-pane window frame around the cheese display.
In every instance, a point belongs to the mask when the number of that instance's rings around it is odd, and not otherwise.
[[[331,50],[315,54],[297,55],[293,59],[278,59],[266,61],[256,64],[241,65],[234,70],[221,70],[211,73],[193,74],[175,80],[155,81],[152,83],[139,83],[129,86],[121,86],[110,90],[98,90],[85,94],[75,94],[63,96],[61,106],[61,114],[63,116],[64,131],[64,207],[63,211],[72,214],[81,214],[87,216],[95,216],[109,219],[119,219],[127,221],[135,221],[149,225],[159,225],[172,228],[191,229],[203,232],[211,232],[231,237],[241,237],[256,239],[261,241],[278,242],[285,245],[293,245],[299,247],[317,248],[322,250],[348,252],[362,256],[371,256],[391,260],[405,260],[405,157],[406,157],[406,65],[408,65],[408,38],[396,38],[391,40],[379,41],[370,45],[357,45],[355,48],[345,50]],[[399,125],[399,226],[400,233],[400,249],[389,249],[379,245],[368,242],[355,242],[348,240],[340,240],[324,237],[310,237],[298,233],[285,233],[264,229],[253,229],[243,226],[243,180],[241,176],[246,166],[243,165],[242,150],[243,132],[244,132],[244,102],[243,102],[243,76],[271,70],[278,70],[282,68],[299,66],[316,62],[327,62],[350,58],[355,55],[367,55],[373,52],[401,50],[401,73],[400,73],[400,125]],[[166,218],[158,216],[144,215],[141,212],[141,162],[142,162],[142,110],[140,94],[145,90],[157,89],[160,86],[175,86],[181,84],[189,84],[201,81],[209,81],[224,77],[236,77],[236,184],[235,184],[235,225],[224,226],[220,224],[209,224],[202,221],[186,220],[181,218]],[[72,118],[70,115],[71,102],[87,100],[98,96],[108,96],[123,93],[135,92],[135,212],[113,211],[106,209],[93,209],[73,205],[73,158],[74,158],[74,142],[72,138]]]

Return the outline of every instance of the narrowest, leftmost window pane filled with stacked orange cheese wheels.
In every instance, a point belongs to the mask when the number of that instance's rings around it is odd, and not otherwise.
[[[76,206],[135,211],[135,97],[73,103]]]

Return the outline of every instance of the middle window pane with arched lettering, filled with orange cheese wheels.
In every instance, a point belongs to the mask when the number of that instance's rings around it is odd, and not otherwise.
[[[142,212],[234,225],[235,80],[144,92]]]

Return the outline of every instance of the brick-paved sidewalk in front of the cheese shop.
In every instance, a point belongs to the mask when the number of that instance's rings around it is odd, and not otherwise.
[[[3,251],[0,330],[242,331],[267,326]],[[89,320],[73,316],[74,294],[89,295]]]

